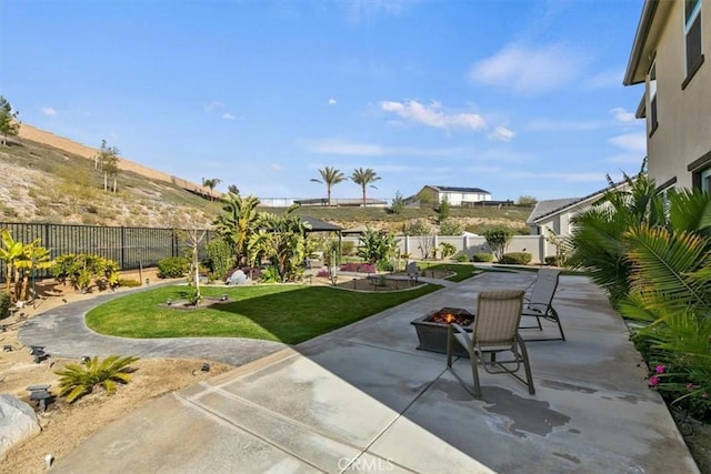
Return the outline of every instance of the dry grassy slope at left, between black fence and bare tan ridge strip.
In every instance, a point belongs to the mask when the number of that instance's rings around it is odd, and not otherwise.
[[[132,171],[103,191],[93,161],[24,139],[0,147],[0,220],[77,224],[207,226],[219,204]]]

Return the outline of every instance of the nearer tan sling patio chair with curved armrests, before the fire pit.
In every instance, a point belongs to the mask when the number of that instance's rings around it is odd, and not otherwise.
[[[519,335],[523,294],[522,290],[481,292],[477,300],[473,331],[467,332],[464,327],[454,323],[449,325],[447,334],[447,366],[474,399],[481,399],[479,362],[488,373],[510,374],[527,385],[531,395],[535,393],[528,352],[523,340]],[[469,353],[473,389],[452,369],[454,344],[461,345]],[[510,353],[510,359],[497,359],[497,355],[501,352]],[[525,380],[517,374],[521,365],[525,371]]]

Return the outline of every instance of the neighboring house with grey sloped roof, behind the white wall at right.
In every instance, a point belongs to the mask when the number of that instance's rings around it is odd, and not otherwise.
[[[622,191],[628,188],[627,182],[621,181],[584,198],[539,201],[525,223],[529,225],[531,235],[548,236],[547,229],[553,231],[555,235],[570,235],[573,228],[572,221],[578,214],[590,209],[605,192]]]

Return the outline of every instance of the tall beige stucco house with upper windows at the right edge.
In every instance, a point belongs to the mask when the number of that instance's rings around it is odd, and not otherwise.
[[[645,84],[649,175],[660,191],[711,190],[711,1],[645,0],[624,85]],[[711,62],[711,61],[710,61]]]

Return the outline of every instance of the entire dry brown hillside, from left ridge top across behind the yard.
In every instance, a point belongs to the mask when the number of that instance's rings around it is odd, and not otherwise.
[[[0,147],[0,173],[4,177],[0,182],[0,222],[208,228],[220,212],[219,202],[174,185],[164,172],[123,158],[119,160],[118,192],[104,192],[103,175],[92,160],[97,150],[30,125],[22,125],[20,137]],[[431,208],[408,208],[401,215],[384,208],[358,206],[303,206],[296,212],[344,229],[369,225],[399,232],[410,219],[427,219],[437,229],[437,213]],[[478,233],[495,225],[525,233],[529,213],[528,208],[451,209],[453,220]]]

